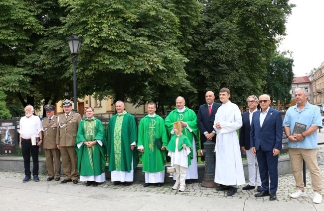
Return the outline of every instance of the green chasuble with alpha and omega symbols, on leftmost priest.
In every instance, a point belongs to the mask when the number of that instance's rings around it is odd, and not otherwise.
[[[92,147],[82,144],[78,148],[77,144],[83,141],[100,140],[103,145],[97,142]],[[101,175],[105,172],[106,160],[106,141],[105,131],[102,123],[97,118],[85,118],[79,124],[76,141],[74,144],[78,155],[78,171],[81,176]]]

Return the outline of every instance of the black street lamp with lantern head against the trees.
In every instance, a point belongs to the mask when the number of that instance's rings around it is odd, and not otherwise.
[[[73,34],[68,40],[67,40],[70,51],[71,51],[71,56],[72,56],[72,64],[73,64],[73,112],[77,112],[77,98],[76,98],[76,63],[78,62],[78,55],[79,55],[79,50],[81,46],[82,40],[76,36],[76,34]]]

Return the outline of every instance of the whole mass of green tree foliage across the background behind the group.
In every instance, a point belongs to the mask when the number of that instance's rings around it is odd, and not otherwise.
[[[228,87],[239,105],[262,91],[280,99],[285,90],[274,87],[287,81],[267,71],[288,68],[274,52],[293,6],[288,0],[1,1],[1,90],[8,102],[36,108],[55,104],[64,91],[72,98],[66,40],[76,33],[83,39],[78,97],[170,106],[182,95],[195,107],[206,90],[217,95]]]

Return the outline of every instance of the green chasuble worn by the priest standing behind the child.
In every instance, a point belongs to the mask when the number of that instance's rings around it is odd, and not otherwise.
[[[186,106],[185,110],[181,113],[179,113],[177,109],[171,111],[164,120],[164,124],[168,135],[171,134],[171,131],[173,129],[173,123],[178,121],[186,122],[189,128],[192,130],[192,133],[190,133],[190,131],[185,127],[182,130],[182,134],[186,136],[191,142],[192,138],[194,137],[196,152],[198,152],[200,149],[200,132],[198,130],[196,114],[194,113],[194,111],[188,109]],[[170,138],[172,138],[172,135]],[[190,156],[193,157],[192,151],[190,152]]]

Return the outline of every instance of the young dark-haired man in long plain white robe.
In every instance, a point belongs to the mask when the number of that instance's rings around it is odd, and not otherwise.
[[[237,192],[237,186],[245,184],[240,144],[236,130],[242,127],[242,116],[238,106],[229,101],[228,88],[219,90],[222,106],[215,115],[215,182],[220,184],[217,191],[227,191],[228,196]]]

